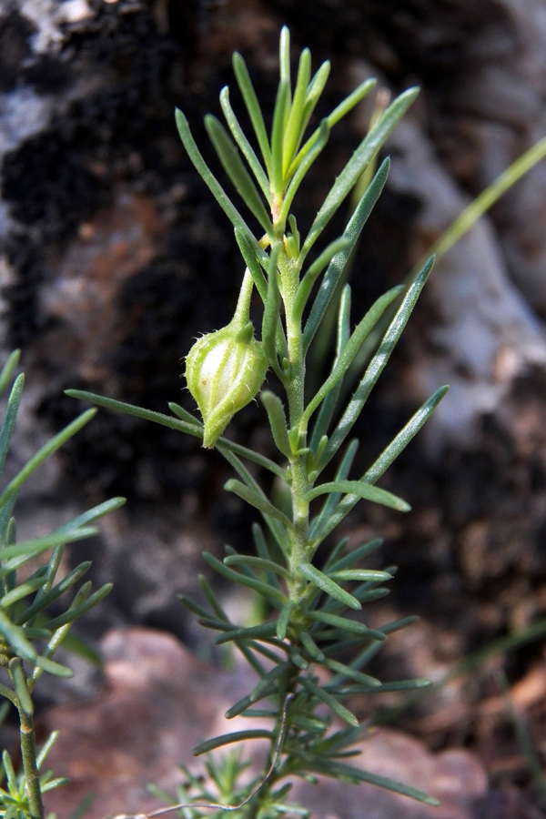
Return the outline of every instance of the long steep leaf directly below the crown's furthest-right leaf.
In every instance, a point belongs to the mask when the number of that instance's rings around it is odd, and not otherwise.
[[[339,253],[332,258],[331,262],[329,263],[329,268],[322,279],[319,292],[317,293],[315,301],[313,302],[313,307],[311,308],[311,312],[309,313],[309,318],[303,332],[303,347],[306,351],[308,350],[309,345],[313,340],[317,329],[319,328],[320,322],[322,321],[322,318],[326,312],[326,308],[328,308],[330,298],[332,298],[335,289],[339,284],[339,279],[341,278],[345,265],[347,264],[351,253],[356,248],[362,227],[364,227],[366,224],[369,214],[373,210],[373,207],[375,206],[377,200],[379,199],[379,195],[385,186],[385,182],[389,176],[389,167],[390,161],[389,158],[387,158],[383,161],[375,177],[373,177],[371,180],[368,189],[360,199],[358,206],[355,208],[355,212],[350,217],[348,226],[343,231],[343,236],[349,238],[349,245],[343,250],[340,250]]]

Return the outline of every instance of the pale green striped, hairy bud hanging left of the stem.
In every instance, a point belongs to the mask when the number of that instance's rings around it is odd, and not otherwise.
[[[197,340],[187,355],[186,380],[203,416],[204,447],[213,447],[236,412],[258,395],[267,371],[249,321],[241,328],[234,319]]]

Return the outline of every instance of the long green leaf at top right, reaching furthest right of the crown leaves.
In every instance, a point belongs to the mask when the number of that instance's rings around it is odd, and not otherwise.
[[[348,196],[349,191],[355,186],[362,171],[369,165],[369,162],[376,156],[379,148],[383,145],[390,132],[406,113],[415,97],[419,94],[419,88],[409,88],[400,94],[387,108],[383,116],[370,129],[359,147],[356,149],[347,165],[343,168],[331,188],[328,197],[319,210],[315,221],[311,225],[308,237],[302,248],[303,256],[306,256],[310,248],[315,244],[320,233],[329,223],[330,218],[337,211],[339,205]]]

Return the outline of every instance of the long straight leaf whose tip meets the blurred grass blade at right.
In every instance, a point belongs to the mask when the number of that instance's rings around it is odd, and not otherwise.
[[[379,345],[379,349],[373,359],[369,362],[369,366],[364,373],[362,380],[359,383],[352,399],[349,401],[347,410],[343,413],[339,424],[331,436],[326,449],[322,454],[320,461],[320,468],[324,468],[335,453],[339,450],[340,444],[349,435],[355,421],[358,419],[364,404],[366,403],[369,393],[375,386],[377,380],[390,358],[392,350],[395,348],[403,329],[410,319],[411,311],[415,307],[417,299],[420,296],[420,291],[425,286],[427,278],[429,278],[430,270],[434,259],[430,258],[424,268],[420,271],[420,275],[415,279],[411,287],[408,289],[405,297],[400,304],[394,319],[390,322],[389,329],[385,333],[383,340]]]

